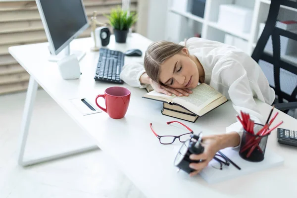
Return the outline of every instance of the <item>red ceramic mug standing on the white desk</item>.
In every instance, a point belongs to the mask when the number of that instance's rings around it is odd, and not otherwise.
[[[113,119],[123,118],[128,110],[131,92],[125,87],[109,87],[104,94],[96,97],[96,104],[102,110],[108,113],[109,117]],[[105,99],[105,108],[101,107],[97,99]]]

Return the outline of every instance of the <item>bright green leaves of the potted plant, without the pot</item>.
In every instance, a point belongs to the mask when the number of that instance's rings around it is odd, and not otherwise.
[[[106,16],[109,19],[109,24],[116,30],[128,30],[136,21],[137,14],[130,12],[128,16],[127,11],[121,7],[111,9],[110,15]]]

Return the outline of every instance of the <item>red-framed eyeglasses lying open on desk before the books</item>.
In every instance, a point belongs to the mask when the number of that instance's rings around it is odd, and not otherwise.
[[[180,142],[184,143],[184,142],[186,142],[186,140],[188,140],[189,135],[194,133],[192,129],[190,129],[190,128],[187,127],[185,124],[183,124],[183,123],[181,123],[181,122],[179,122],[179,121],[170,121],[170,122],[166,122],[166,123],[169,125],[169,124],[174,123],[174,122],[177,122],[177,123],[183,125],[184,127],[186,127],[186,128],[190,131],[190,133],[185,133],[185,134],[182,134],[182,135],[180,135],[180,136],[159,136],[159,135],[156,134],[156,133],[154,132],[154,130],[152,129],[152,124],[149,123],[149,127],[150,127],[152,133],[159,139],[159,141],[160,141],[161,144],[163,144],[163,145],[170,145],[170,144],[172,144],[177,138],[179,139]]]

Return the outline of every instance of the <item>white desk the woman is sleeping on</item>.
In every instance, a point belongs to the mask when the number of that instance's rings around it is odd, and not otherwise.
[[[138,34],[129,37],[127,44],[115,44],[113,40],[111,37],[109,48],[122,51],[138,48],[144,52],[151,42]],[[176,167],[173,166],[176,152],[173,148],[180,143],[176,142],[175,146],[160,145],[149,129],[149,123],[152,122],[159,134],[165,134],[165,129],[175,133],[177,130],[174,130],[174,126],[166,125],[166,121],[174,119],[161,115],[160,102],[142,99],[145,90],[123,85],[131,90],[130,106],[123,119],[111,119],[104,112],[83,116],[69,99],[97,95],[103,93],[105,88],[115,85],[94,81],[99,53],[90,51],[92,45],[90,38],[75,40],[71,45],[86,50],[87,54],[80,62],[81,78],[70,81],[60,77],[56,63],[47,61],[49,52],[46,43],[9,48],[13,57],[31,75],[24,119],[28,116],[28,122],[30,121],[30,107],[34,102],[37,81],[97,141],[99,148],[115,159],[119,168],[148,198],[275,198],[296,195],[297,149],[279,145],[276,132],[268,138],[267,149],[277,152],[285,159],[283,166],[209,185],[199,176],[190,178],[183,172],[176,173]],[[125,61],[131,59],[126,58]],[[259,101],[257,103],[263,115],[267,116],[271,107]],[[280,112],[275,123],[280,120],[284,120],[283,128],[297,129],[296,119]],[[235,111],[231,102],[227,102],[199,118],[196,123],[183,122],[195,133],[201,130],[204,134],[224,133],[225,127],[235,122]],[[26,133],[27,129],[28,124],[24,123],[23,132]]]

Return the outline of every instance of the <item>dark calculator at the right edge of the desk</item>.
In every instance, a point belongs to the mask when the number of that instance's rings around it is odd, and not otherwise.
[[[297,131],[277,128],[277,140],[280,144],[297,147]]]

